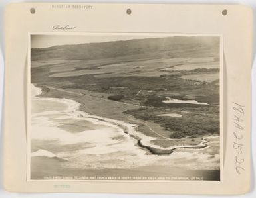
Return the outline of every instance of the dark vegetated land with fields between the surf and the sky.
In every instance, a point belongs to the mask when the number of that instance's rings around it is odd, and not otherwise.
[[[102,108],[105,117],[116,114],[146,135],[160,134],[156,144],[168,145],[162,136],[195,144],[220,130],[218,46],[217,38],[180,37],[37,48],[31,50],[31,83],[49,96],[51,87],[59,90],[55,97],[77,93],[72,99],[86,111]],[[167,98],[184,102],[164,103]],[[192,100],[198,103],[186,102]],[[113,109],[104,107],[110,103]],[[182,117],[158,116],[168,113]],[[161,130],[152,132],[150,124]]]

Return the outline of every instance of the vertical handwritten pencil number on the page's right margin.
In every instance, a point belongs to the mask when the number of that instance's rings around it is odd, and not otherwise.
[[[244,144],[243,144],[243,132],[244,132],[244,116],[245,110],[244,106],[239,103],[233,102],[233,150],[235,152],[234,162],[235,162],[235,171],[237,174],[241,174],[245,171],[244,164],[245,158],[243,156]]]

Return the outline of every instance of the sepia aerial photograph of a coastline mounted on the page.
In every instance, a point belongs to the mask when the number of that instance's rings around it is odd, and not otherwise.
[[[220,181],[221,37],[31,34],[29,179]]]

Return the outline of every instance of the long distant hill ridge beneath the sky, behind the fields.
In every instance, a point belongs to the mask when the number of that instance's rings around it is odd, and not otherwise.
[[[219,58],[219,37],[172,36],[32,48],[31,60],[93,60],[154,54],[158,58],[209,57]]]

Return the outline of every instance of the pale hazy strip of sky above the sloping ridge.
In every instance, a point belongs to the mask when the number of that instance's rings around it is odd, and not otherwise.
[[[64,44],[82,44],[90,42],[108,42],[116,40],[132,40],[140,38],[159,38],[168,37],[165,34],[158,34],[155,36],[145,35],[32,35],[31,48],[48,48],[51,46],[64,45]]]

